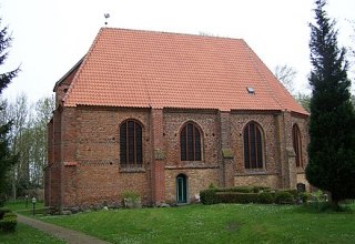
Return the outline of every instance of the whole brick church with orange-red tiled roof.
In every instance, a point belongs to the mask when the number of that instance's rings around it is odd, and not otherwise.
[[[308,113],[244,40],[103,28],[53,91],[48,206],[306,184]]]

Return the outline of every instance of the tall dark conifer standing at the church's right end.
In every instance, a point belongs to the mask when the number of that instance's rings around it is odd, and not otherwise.
[[[312,87],[307,181],[331,196],[338,209],[355,196],[355,112],[351,103],[345,49],[337,48],[335,21],[325,0],[316,0],[311,27]]]

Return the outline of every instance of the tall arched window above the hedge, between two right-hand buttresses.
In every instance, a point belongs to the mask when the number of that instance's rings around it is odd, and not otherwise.
[[[262,169],[264,165],[263,136],[260,125],[250,122],[244,128],[245,169]]]

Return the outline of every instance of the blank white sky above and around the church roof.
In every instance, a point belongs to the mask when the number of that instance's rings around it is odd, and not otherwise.
[[[273,71],[297,71],[296,87],[307,87],[310,27],[314,0],[0,0],[1,28],[12,32],[12,48],[0,72],[21,64],[3,92],[30,101],[51,95],[54,83],[89,50],[110,13],[108,27],[242,38]],[[337,20],[338,41],[351,42],[354,0],[328,0]]]

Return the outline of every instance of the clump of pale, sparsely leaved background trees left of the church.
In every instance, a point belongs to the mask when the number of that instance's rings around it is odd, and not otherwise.
[[[0,122],[9,121],[9,150],[17,155],[17,164],[8,177],[7,195],[24,196],[29,190],[43,189],[43,167],[47,164],[47,123],[54,109],[53,98],[42,98],[29,103],[26,94],[14,101],[2,101]]]

